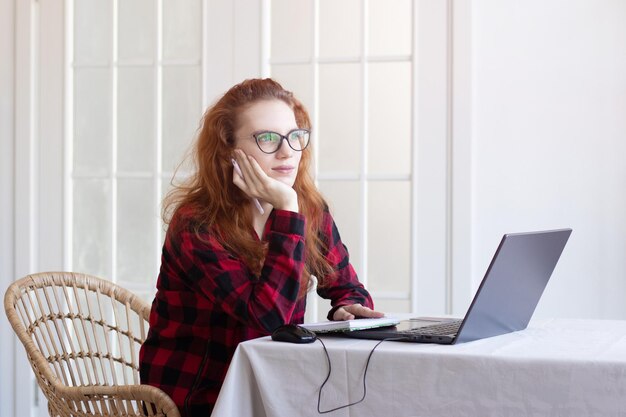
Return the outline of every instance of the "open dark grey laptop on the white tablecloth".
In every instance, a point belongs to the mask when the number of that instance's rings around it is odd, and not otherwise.
[[[571,233],[560,229],[505,234],[462,320],[418,317],[343,335],[450,345],[523,330]]]

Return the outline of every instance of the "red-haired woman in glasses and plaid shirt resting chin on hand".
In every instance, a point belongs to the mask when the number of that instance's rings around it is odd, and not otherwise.
[[[311,276],[331,320],[380,317],[309,175],[310,120],[271,79],[232,87],[204,116],[197,171],[169,223],[141,381],[183,416],[209,416],[237,345],[302,323]]]

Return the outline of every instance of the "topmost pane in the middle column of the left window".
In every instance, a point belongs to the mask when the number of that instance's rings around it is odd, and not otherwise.
[[[106,3],[106,2],[105,2]],[[157,2],[132,0],[118,2],[118,59],[147,61],[155,58]]]

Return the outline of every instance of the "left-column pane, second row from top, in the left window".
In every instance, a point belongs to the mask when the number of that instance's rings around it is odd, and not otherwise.
[[[74,71],[74,174],[108,175],[112,141],[112,72],[109,68]]]

